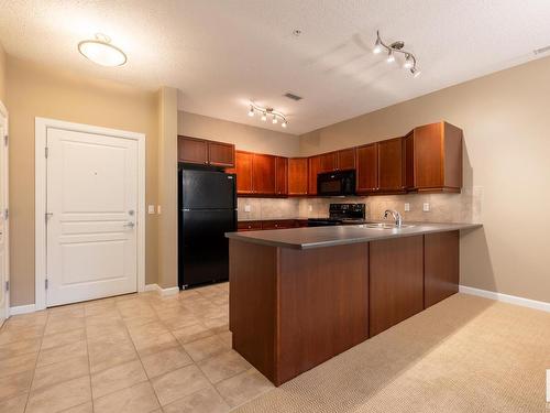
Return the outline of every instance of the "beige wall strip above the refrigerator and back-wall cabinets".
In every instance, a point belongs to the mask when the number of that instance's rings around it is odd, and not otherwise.
[[[282,156],[299,154],[295,134],[271,131],[207,116],[178,112],[178,134],[234,143],[237,149]]]

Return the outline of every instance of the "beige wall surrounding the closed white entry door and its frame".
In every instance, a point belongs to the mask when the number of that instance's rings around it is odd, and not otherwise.
[[[10,112],[11,304],[34,303],[34,118],[146,134],[146,203],[156,204],[158,112],[155,93],[81,78],[8,56]],[[146,218],[146,282],[156,282],[156,215]]]

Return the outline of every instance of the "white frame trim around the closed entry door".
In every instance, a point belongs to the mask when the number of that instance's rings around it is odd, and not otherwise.
[[[46,308],[46,137],[47,129],[106,134],[138,141],[138,292],[145,290],[145,134],[90,124],[35,118],[34,191],[35,191],[35,308]]]

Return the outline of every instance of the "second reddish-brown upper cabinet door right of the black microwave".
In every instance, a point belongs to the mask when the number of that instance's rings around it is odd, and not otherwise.
[[[378,142],[378,188],[381,192],[404,189],[403,152],[402,138]]]

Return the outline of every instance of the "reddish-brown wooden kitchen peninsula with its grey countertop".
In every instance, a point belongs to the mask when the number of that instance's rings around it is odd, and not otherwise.
[[[279,385],[458,292],[472,224],[227,233],[233,348]]]

